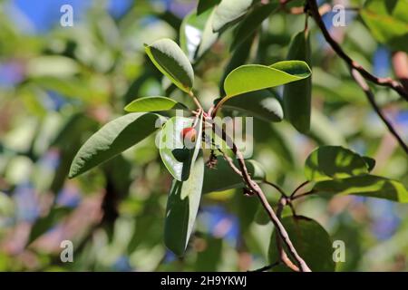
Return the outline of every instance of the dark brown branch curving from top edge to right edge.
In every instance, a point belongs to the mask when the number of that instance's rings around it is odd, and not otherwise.
[[[345,53],[340,44],[335,42],[335,39],[329,34],[327,28],[325,27],[325,23],[323,22],[323,19],[319,14],[319,8],[317,6],[316,0],[307,0],[307,3],[312,17],[315,19],[317,26],[320,28],[320,31],[325,37],[325,41],[330,44],[335,53],[340,56],[345,61],[345,63],[350,66],[350,68],[353,68],[356,71],[360,72],[364,76],[364,78],[370,82],[374,82],[378,85],[393,89],[393,91],[398,92],[400,96],[408,102],[408,92],[405,91],[403,85],[400,82],[397,82],[391,78],[376,77],[374,74],[366,71],[364,67],[359,63],[356,63],[350,56],[348,56],[348,54]]]

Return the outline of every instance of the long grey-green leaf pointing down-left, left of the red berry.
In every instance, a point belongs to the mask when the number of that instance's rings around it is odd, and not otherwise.
[[[154,113],[134,112],[110,121],[76,153],[68,177],[72,179],[83,174],[145,139],[157,130],[155,126],[159,118]]]

